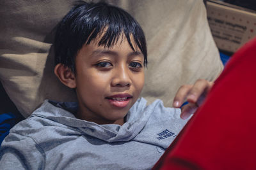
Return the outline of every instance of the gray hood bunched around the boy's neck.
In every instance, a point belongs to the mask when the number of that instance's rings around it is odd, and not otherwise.
[[[55,122],[55,124],[66,125],[68,129],[75,129],[81,135],[87,134],[111,143],[129,141],[137,136],[147,124],[154,109],[147,106],[145,99],[138,99],[127,113],[125,124],[121,126],[116,124],[99,125],[78,119],[75,117],[77,108],[78,104],[75,102],[66,103],[46,100],[31,117],[45,118]]]

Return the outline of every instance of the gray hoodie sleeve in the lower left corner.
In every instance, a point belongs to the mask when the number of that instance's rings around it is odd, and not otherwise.
[[[0,148],[0,169],[44,169],[45,153],[36,141],[15,132],[10,133]]]

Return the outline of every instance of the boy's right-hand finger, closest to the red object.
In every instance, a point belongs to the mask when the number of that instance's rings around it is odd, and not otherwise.
[[[213,82],[207,80],[197,80],[191,90],[189,91],[187,100],[189,103],[196,103],[200,96],[204,96],[209,92]]]

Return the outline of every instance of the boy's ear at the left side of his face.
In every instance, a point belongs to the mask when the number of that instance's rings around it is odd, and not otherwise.
[[[59,63],[55,66],[54,73],[64,85],[71,89],[76,88],[76,76],[70,68]]]

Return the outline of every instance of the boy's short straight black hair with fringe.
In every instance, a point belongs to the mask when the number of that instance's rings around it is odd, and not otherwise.
[[[54,41],[55,64],[64,64],[76,73],[77,53],[85,43],[89,45],[99,34],[102,34],[99,46],[109,48],[124,35],[134,50],[132,35],[134,43],[144,55],[144,66],[147,66],[145,35],[138,22],[129,13],[116,6],[83,1],[79,1],[79,4],[74,6],[58,24]]]

